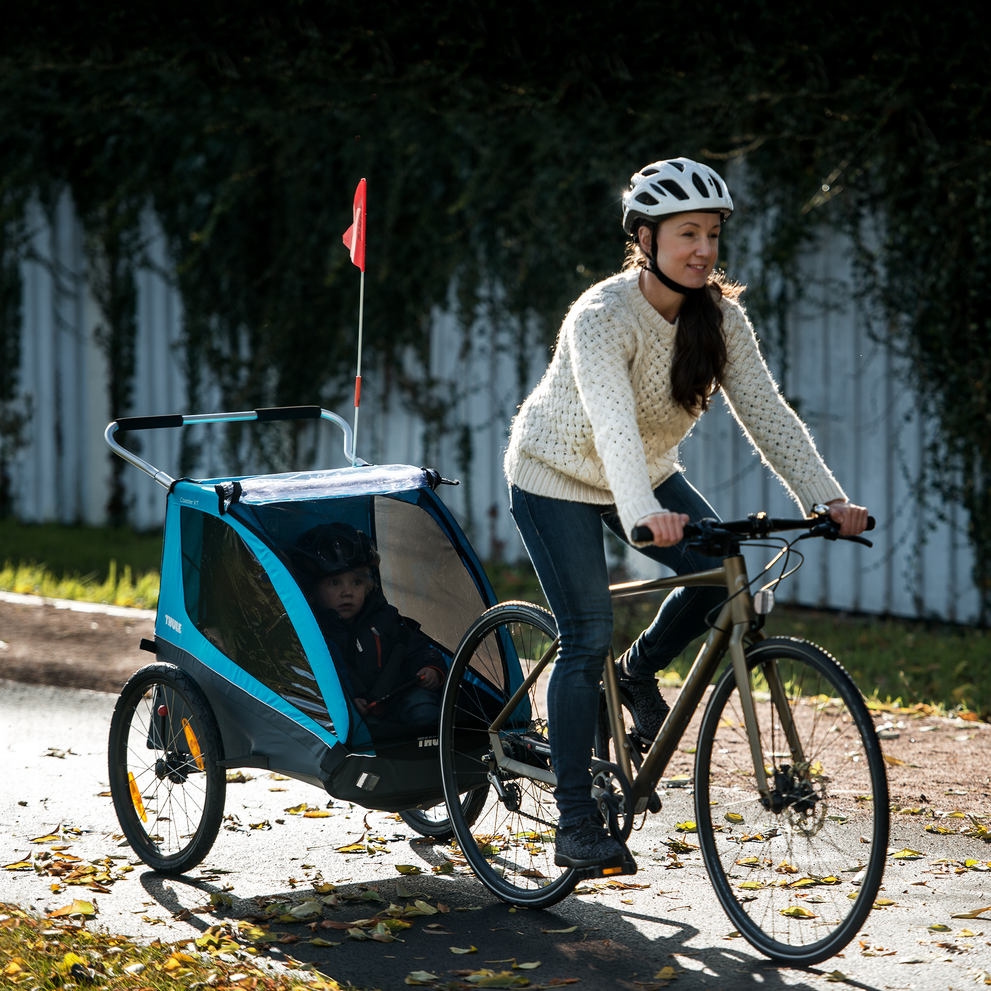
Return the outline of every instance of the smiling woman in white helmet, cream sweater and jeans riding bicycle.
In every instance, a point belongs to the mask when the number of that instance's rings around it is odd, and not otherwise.
[[[505,462],[513,517],[560,633],[547,711],[555,863],[564,867],[624,857],[602,825],[589,773],[612,644],[602,524],[676,574],[720,566],[683,544],[689,519],[716,513],[678,464],[678,445],[715,392],[803,512],[828,504],[843,535],[867,525],[867,510],[847,500],[781,397],[737,302],[743,287],[715,271],[733,210],[720,176],[685,158],[655,162],[632,177],[623,208],[627,263],[565,317],[554,357],[513,421]],[[653,542],[633,544],[636,526]],[[636,745],[649,745],[668,712],[655,673],[705,632],[724,597],[677,589],[616,662]]]

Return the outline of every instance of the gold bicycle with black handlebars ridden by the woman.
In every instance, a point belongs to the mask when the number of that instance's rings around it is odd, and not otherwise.
[[[873,527],[873,520],[869,528]],[[741,545],[804,530],[756,579]],[[764,620],[794,545],[843,538],[816,507],[810,519],[703,520],[685,527],[719,568],[610,586],[614,598],[679,585],[719,585],[727,598],[657,738],[642,756],[628,739],[612,655],[592,759],[593,794],[624,843],[634,818],[659,812],[656,789],[719,665],[695,755],[695,823],[702,859],[736,929],[757,950],[791,965],[839,952],[874,904],[887,855],[888,788],[874,724],[856,684],[825,650],[768,638]],[[639,534],[634,535],[637,539]],[[649,531],[645,534],[649,539]],[[784,558],[781,574],[754,584]],[[711,614],[710,614],[711,616]],[[484,612],[455,653],[441,706],[441,775],[458,846],[481,882],[505,901],[545,908],[580,880],[632,873],[554,865],[556,784],[544,694],[557,630],[546,610],[506,602]],[[473,823],[465,795],[489,788]]]

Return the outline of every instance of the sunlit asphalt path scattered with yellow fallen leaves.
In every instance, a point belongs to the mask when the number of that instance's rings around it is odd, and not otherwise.
[[[585,988],[631,991],[663,986],[657,975],[665,967],[675,969],[672,986],[707,991],[818,988],[836,971],[854,987],[962,989],[983,984],[982,973],[991,971],[991,912],[983,921],[952,918],[991,906],[988,843],[933,835],[918,821],[895,817],[889,852],[909,847],[925,857],[889,857],[881,894],[894,904],[875,910],[841,956],[810,970],[789,969],[733,935],[698,853],[682,856],[679,868],[666,866],[671,860],[664,844],[676,835],[674,824],[694,818],[684,789],[667,791],[663,811],[633,835],[641,871],[626,880],[643,887],[587,885],[588,893],[548,911],[514,910],[470,872],[432,873],[450,851],[419,838],[394,816],[329,801],[312,786],[254,770],[245,772],[251,780],[228,786],[230,818],[204,865],[187,878],[165,878],[133,856],[107,797],[114,701],[97,692],[0,681],[0,857],[4,866],[29,861],[41,867],[40,873],[35,866],[0,870],[0,902],[48,913],[85,899],[96,908],[87,922],[91,929],[169,942],[196,938],[218,923],[236,924],[273,900],[281,899],[288,911],[320,897],[327,884],[336,887],[339,904],[322,906],[317,918],[331,922],[368,917],[376,907],[410,904],[416,897],[447,909],[413,920],[402,941],[388,943],[355,940],[330,928],[316,932],[336,945],[314,945],[314,920],[272,925],[299,941],[268,944],[271,959],[315,964],[360,988],[402,988],[407,974],[421,970],[450,981],[456,971],[505,970],[512,960],[539,961],[539,967],[516,972],[533,986],[577,978]],[[288,811],[304,802],[330,815],[304,818]],[[46,836],[57,839],[31,842]],[[338,852],[362,838],[380,849],[373,855]],[[107,890],[63,884],[53,891],[58,879],[44,868],[55,846],[101,869],[108,856],[116,858],[107,870],[110,883],[101,885]],[[938,863],[968,859],[977,862],[970,869]],[[422,873],[400,873],[400,865]],[[211,895],[220,904],[211,905]],[[949,929],[932,932],[934,924]],[[972,935],[961,936],[962,930]],[[477,952],[456,954],[452,947]]]

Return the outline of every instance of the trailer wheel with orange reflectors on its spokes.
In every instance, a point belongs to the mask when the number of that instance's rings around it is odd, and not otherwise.
[[[222,757],[213,710],[180,668],[149,664],[124,685],[110,721],[110,793],[131,848],[160,874],[184,874],[213,846]]]

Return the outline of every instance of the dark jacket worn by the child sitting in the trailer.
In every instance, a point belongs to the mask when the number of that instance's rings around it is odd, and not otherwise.
[[[442,678],[445,674],[440,653],[420,631],[420,624],[400,616],[378,589],[368,594],[350,621],[333,609],[314,612],[336,659],[344,663],[353,698],[380,698],[424,667],[437,668]]]

